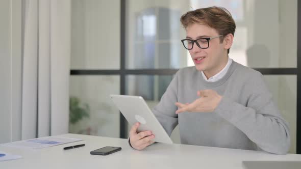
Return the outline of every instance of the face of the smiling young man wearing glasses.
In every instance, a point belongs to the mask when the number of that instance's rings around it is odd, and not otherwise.
[[[208,25],[191,24],[186,27],[186,38],[196,40],[198,38],[210,38],[219,36],[215,29]],[[195,68],[210,75],[217,74],[228,62],[225,43],[220,43],[220,38],[209,40],[207,49],[199,48],[195,43],[189,50]],[[207,74],[206,74],[207,76]]]

